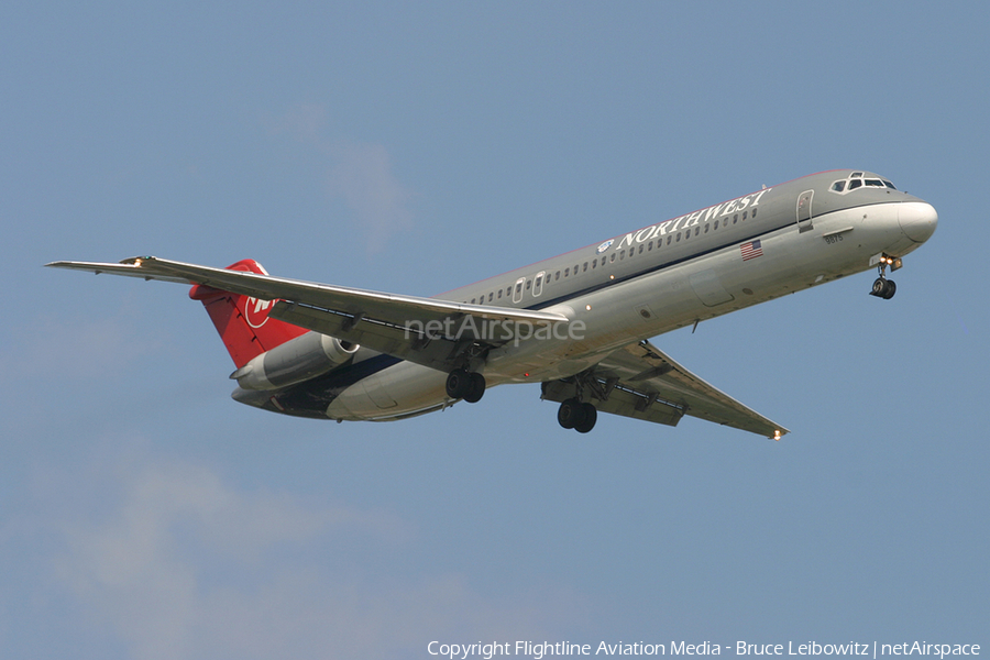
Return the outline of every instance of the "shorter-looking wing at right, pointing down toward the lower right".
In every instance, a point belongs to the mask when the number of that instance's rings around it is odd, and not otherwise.
[[[592,367],[590,386],[595,408],[624,417],[676,426],[684,415],[779,440],[788,429],[708,385],[642,341],[629,344]],[[543,398],[563,402],[574,396],[569,380],[543,384]]]

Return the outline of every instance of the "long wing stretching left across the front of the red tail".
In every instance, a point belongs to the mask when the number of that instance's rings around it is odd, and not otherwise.
[[[154,256],[119,264],[53,262],[55,268],[199,284],[261,300],[278,300],[268,316],[369,349],[449,371],[471,346],[510,341],[522,323],[566,323],[552,311],[450,302],[329,284],[185,264]]]

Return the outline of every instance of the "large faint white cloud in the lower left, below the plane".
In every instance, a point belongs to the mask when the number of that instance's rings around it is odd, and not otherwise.
[[[503,602],[458,574],[385,579],[416,543],[386,513],[239,491],[186,463],[103,472],[86,479],[117,494],[63,525],[58,579],[139,660],[420,657],[431,639],[539,638],[575,612],[553,590]]]

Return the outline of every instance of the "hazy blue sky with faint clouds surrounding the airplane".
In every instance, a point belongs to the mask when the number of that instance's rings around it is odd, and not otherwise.
[[[8,3],[0,654],[430,640],[990,642],[983,3]],[[837,167],[932,202],[871,274],[654,339],[793,433],[229,398],[139,254],[433,295]]]

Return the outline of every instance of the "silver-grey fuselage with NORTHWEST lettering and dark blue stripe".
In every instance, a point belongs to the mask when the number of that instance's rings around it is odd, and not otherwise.
[[[849,189],[854,178],[859,185]],[[845,182],[842,190],[838,182]],[[868,271],[877,255],[902,257],[936,223],[931,205],[882,177],[825,172],[436,297],[580,321],[580,337],[513,341],[473,365],[490,387],[539,383],[582,372],[631,342]],[[326,405],[322,414],[332,419],[384,421],[451,405],[446,378],[442,371],[361,349],[353,362],[317,382],[264,396],[239,388],[233,396],[278,411],[283,406],[273,404],[279,398],[297,408],[305,399]]]

